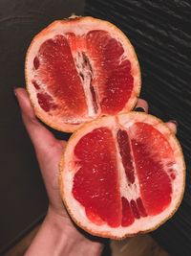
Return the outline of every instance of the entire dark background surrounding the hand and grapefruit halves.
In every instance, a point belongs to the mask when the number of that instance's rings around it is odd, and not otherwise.
[[[48,203],[12,88],[25,86],[24,59],[33,35],[54,19],[83,11],[84,1],[77,0],[0,0],[0,254],[42,220]],[[128,35],[141,67],[141,97],[152,114],[179,123],[186,190],[175,217],[152,235],[172,256],[190,256],[191,3],[87,0],[85,14],[107,19]]]

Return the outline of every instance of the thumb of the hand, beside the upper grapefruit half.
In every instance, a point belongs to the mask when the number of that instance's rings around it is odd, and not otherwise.
[[[21,108],[22,119],[32,139],[36,151],[47,151],[57,142],[51,131],[41,125],[36,119],[28,93],[23,88],[14,90],[15,96]]]

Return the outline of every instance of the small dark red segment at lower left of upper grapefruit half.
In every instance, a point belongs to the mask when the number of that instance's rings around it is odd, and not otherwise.
[[[57,106],[53,103],[53,98],[47,94],[44,93],[37,93],[37,99],[39,105],[44,109],[46,112],[50,111],[50,109],[55,109]]]

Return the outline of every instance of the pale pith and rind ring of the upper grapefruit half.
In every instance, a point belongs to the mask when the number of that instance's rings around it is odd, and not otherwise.
[[[124,58],[128,58],[130,62],[132,63],[132,75],[134,76],[134,89],[132,90],[132,95],[127,103],[127,105],[124,106],[123,109],[130,110],[136,103],[136,98],[139,93],[139,86],[140,86],[140,75],[139,75],[139,66],[138,66],[138,59],[136,57],[135,51],[133,49],[133,46],[130,44],[128,39],[125,35],[123,35],[121,32],[117,33],[117,27],[112,25],[109,22],[100,21],[98,19],[87,17],[88,22],[85,17],[78,20],[77,22],[72,21],[56,21],[53,24],[51,24],[48,28],[46,28],[46,32],[43,33],[43,31],[34,37],[32,40],[32,44],[29,48],[27,59],[26,59],[26,81],[28,84],[28,90],[30,92],[32,105],[34,106],[35,112],[37,113],[38,117],[42,118],[42,120],[46,123],[52,123],[54,127],[58,129],[62,129],[65,124],[74,124],[74,123],[84,123],[87,121],[91,121],[95,119],[96,117],[100,116],[100,109],[95,111],[93,101],[92,101],[92,94],[90,91],[90,80],[91,80],[91,74],[90,70],[83,69],[82,68],[82,61],[80,54],[78,55],[77,52],[73,52],[74,60],[76,69],[79,71],[82,71],[84,73],[85,81],[83,81],[83,89],[86,96],[86,103],[88,106],[87,114],[84,114],[84,116],[80,117],[65,117],[65,116],[59,116],[58,110],[51,110],[51,112],[44,111],[39,105],[38,100],[36,97],[36,89],[32,85],[32,80],[35,79],[35,76],[37,72],[33,68],[33,58],[37,56],[38,50],[43,42],[46,40],[53,38],[55,35],[65,35],[67,33],[74,33],[75,35],[86,35],[88,32],[93,30],[102,30],[109,32],[110,35],[117,39],[121,43],[121,45],[124,48],[124,54],[121,56],[121,61]],[[83,48],[83,47],[82,47]],[[94,60],[89,59],[91,62],[91,65],[94,69]],[[78,65],[78,67],[77,67]],[[46,84],[40,84],[42,86],[42,89],[44,88],[45,91],[48,92],[46,88]],[[49,92],[48,92],[49,93]],[[51,94],[51,93],[50,93]],[[53,97],[53,95],[51,94]],[[101,95],[98,92],[96,92],[96,96],[98,101],[101,101]],[[56,103],[56,99],[53,99]],[[121,110],[124,111],[124,110]],[[74,126],[74,125],[73,125]],[[75,128],[75,126],[74,126]]]

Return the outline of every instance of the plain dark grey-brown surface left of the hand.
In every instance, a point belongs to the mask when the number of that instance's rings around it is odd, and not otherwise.
[[[83,8],[83,0],[0,1],[0,254],[42,219],[48,203],[12,89],[25,86],[25,54],[33,35]]]

